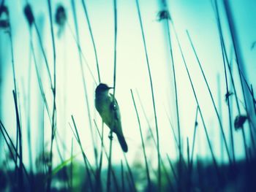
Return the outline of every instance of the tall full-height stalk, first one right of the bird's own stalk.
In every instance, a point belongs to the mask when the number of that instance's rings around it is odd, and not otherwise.
[[[157,134],[157,160],[158,160],[157,180],[158,180],[158,191],[161,191],[161,159],[160,159],[159,133],[158,133],[158,126],[157,126],[157,110],[156,110],[156,104],[155,104],[155,101],[154,101],[153,81],[152,81],[151,70],[150,70],[149,61],[148,61],[148,52],[147,52],[147,48],[146,48],[146,38],[145,38],[143,23],[142,23],[142,19],[141,19],[141,15],[140,15],[140,6],[139,6],[138,0],[136,0],[136,6],[137,6],[137,10],[138,10],[138,18],[140,20],[140,30],[141,30],[141,34],[142,34],[142,37],[143,37],[143,46],[144,46],[145,55],[146,55],[146,64],[148,66],[148,76],[149,76],[149,80],[150,80],[152,104],[153,104],[153,108],[154,108],[154,121],[155,121],[156,134]]]

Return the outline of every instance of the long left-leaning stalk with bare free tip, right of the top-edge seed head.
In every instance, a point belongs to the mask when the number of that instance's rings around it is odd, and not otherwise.
[[[207,86],[208,92],[209,92],[209,94],[210,94],[210,96],[211,96],[211,102],[212,102],[212,104],[214,105],[214,111],[215,111],[215,113],[216,113],[216,115],[217,115],[217,119],[218,119],[218,121],[219,121],[219,128],[220,128],[220,131],[221,131],[221,133],[222,133],[222,138],[223,138],[223,140],[224,140],[224,144],[225,144],[225,149],[226,149],[226,152],[227,152],[228,161],[229,161],[230,164],[232,164],[232,161],[231,161],[231,158],[230,158],[230,153],[229,153],[229,150],[228,150],[228,147],[227,147],[227,139],[226,139],[226,137],[225,137],[225,133],[224,133],[223,126],[222,126],[222,120],[220,119],[219,112],[218,112],[218,110],[217,110],[217,106],[216,106],[215,101],[214,101],[214,96],[213,96],[212,93],[211,93],[210,86],[208,85],[208,80],[206,79],[206,75],[205,75],[205,73],[203,72],[202,64],[201,64],[201,62],[200,62],[200,60],[199,60],[199,58],[198,58],[197,52],[196,52],[196,50],[195,50],[195,46],[194,46],[194,44],[193,44],[193,42],[192,42],[192,39],[191,39],[191,37],[190,37],[190,35],[189,35],[189,32],[188,32],[188,31],[186,31],[186,32],[187,32],[187,37],[189,38],[189,42],[190,42],[190,45],[191,45],[191,47],[192,47],[192,50],[193,50],[193,52],[194,52],[194,54],[195,54],[195,57],[197,58],[197,64],[198,64],[199,67],[200,67],[200,71],[201,71],[201,73],[203,74],[203,79],[204,79],[205,82],[206,82],[206,86]],[[231,129],[232,129],[232,128],[231,128]],[[234,152],[234,144],[233,144],[233,132],[231,132],[231,136],[232,136],[232,138],[231,138],[232,140],[231,140],[231,141],[232,141],[233,161],[235,161],[235,152]]]

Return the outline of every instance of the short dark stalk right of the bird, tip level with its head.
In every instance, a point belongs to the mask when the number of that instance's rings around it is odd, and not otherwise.
[[[135,112],[136,112],[137,119],[138,119],[138,125],[139,125],[139,128],[140,128],[140,139],[141,139],[141,143],[142,143],[142,147],[143,147],[143,155],[144,155],[145,166],[146,166],[146,175],[147,175],[147,180],[148,180],[148,191],[151,191],[151,180],[150,180],[150,175],[149,175],[149,170],[148,170],[148,161],[147,161],[147,156],[146,156],[145,144],[144,144],[143,135],[142,135],[141,126],[140,126],[140,117],[138,115],[138,110],[137,110],[137,107],[136,107],[136,103],[135,103],[135,99],[134,99],[134,96],[133,96],[133,93],[132,93],[132,89],[131,89],[131,94],[132,94],[133,105],[135,107]]]

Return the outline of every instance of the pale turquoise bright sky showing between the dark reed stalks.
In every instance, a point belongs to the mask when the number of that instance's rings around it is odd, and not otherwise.
[[[154,93],[157,106],[157,119],[159,126],[160,148],[162,156],[168,153],[171,158],[177,157],[177,150],[173,139],[173,134],[170,128],[170,121],[178,135],[176,108],[175,108],[175,93],[173,85],[173,72],[170,63],[170,53],[167,44],[167,31],[165,22],[157,21],[157,14],[161,9],[160,1],[140,1],[140,11],[143,19],[143,27],[146,36],[146,46],[148,50],[149,64],[151,67],[152,80],[154,85]],[[53,52],[50,37],[50,23],[48,16],[47,1],[30,1],[31,7],[36,18],[36,23],[40,28],[40,34],[43,38],[43,45],[47,53],[47,58],[50,64],[51,73],[53,75]],[[97,79],[97,69],[94,58],[94,50],[89,36],[89,29],[86,23],[86,18],[83,12],[83,7],[80,1],[75,1],[78,17],[78,27],[80,34],[80,47],[86,57],[94,78]],[[7,1],[10,9],[10,18],[13,33],[15,67],[18,81],[18,93],[20,98],[20,109],[23,123],[23,146],[24,158],[28,162],[27,138],[26,138],[26,105],[28,102],[28,77],[29,77],[29,26],[26,18],[23,16],[23,7],[25,1],[14,0]],[[86,100],[83,92],[83,83],[81,77],[78,48],[72,37],[75,31],[72,8],[70,1],[54,1],[52,2],[53,12],[58,4],[63,4],[67,10],[67,21],[71,29],[66,25],[64,33],[61,37],[57,37],[58,28],[55,25],[54,32],[56,35],[56,57],[57,57],[57,128],[61,136],[61,140],[67,146],[67,153],[70,153],[72,131],[68,123],[72,123],[71,115],[74,115],[80,139],[82,140],[86,155],[89,160],[94,162],[93,145],[91,142],[91,133],[89,130],[88,112],[86,110]],[[227,31],[226,15],[223,11],[222,1],[220,4],[220,14],[222,26],[225,30],[225,43],[230,56],[230,36]],[[91,20],[91,28],[93,30],[95,43],[97,46],[97,55],[99,57],[99,69],[102,82],[108,85],[113,85],[113,1],[97,0],[86,1],[86,6]],[[148,79],[148,71],[146,66],[146,56],[143,50],[143,40],[141,36],[138,12],[135,1],[120,0],[117,2],[118,7],[118,37],[117,37],[117,79],[116,79],[116,99],[121,108],[121,117],[124,136],[127,138],[129,152],[127,158],[129,161],[143,162],[142,147],[140,142],[140,132],[130,89],[135,93],[135,101],[140,115],[141,126],[143,129],[143,137],[146,137],[148,132],[148,124],[143,115],[143,110],[138,99],[138,91],[143,107],[146,111],[146,116],[150,122],[155,134],[154,112],[151,101],[151,90]],[[186,29],[189,31],[192,41],[194,42],[197,55],[200,58],[204,72],[208,79],[211,91],[213,92],[214,101],[219,107],[219,102],[222,105],[223,125],[228,145],[230,146],[230,134],[228,127],[227,104],[225,103],[225,74],[222,64],[222,53],[220,50],[219,36],[217,31],[217,23],[214,16],[214,9],[211,1],[193,0],[193,1],[168,1],[170,15],[178,33],[178,38],[181,42],[181,47],[184,51],[184,56],[187,61],[189,72],[192,76],[192,81],[195,85],[195,90],[198,96],[200,107],[202,107],[203,116],[206,121],[208,134],[210,135],[211,143],[214,146],[218,160],[220,159],[220,141],[219,141],[219,124],[217,116],[214,112],[214,107],[211,103],[211,98],[208,94],[206,84],[203,81],[203,76],[200,73],[195,55],[186,34]],[[244,53],[244,64],[246,69],[247,80],[252,83],[254,90],[255,84],[255,48],[252,49],[252,43],[256,41],[256,20],[254,13],[256,12],[255,1],[232,1],[232,13],[234,16],[236,28],[238,29],[241,50]],[[42,58],[42,52],[39,49],[37,34],[34,27],[32,28],[33,43],[35,47],[37,65],[45,89],[45,95],[48,99],[50,111],[52,111],[52,96],[50,84],[47,79],[45,63]],[[192,134],[194,131],[196,103],[192,94],[192,88],[189,84],[187,73],[181,59],[181,53],[178,50],[178,44],[171,28],[173,55],[176,66],[176,81],[178,86],[178,107],[181,121],[181,133],[184,154],[187,154],[187,137],[189,145],[192,145]],[[15,139],[15,108],[12,99],[12,68],[10,56],[10,42],[7,34],[0,31],[0,62],[1,62],[1,120],[4,122],[7,130]],[[235,64],[235,62],[233,62]],[[37,77],[34,69],[34,62],[31,63],[31,135],[32,135],[32,150],[33,158],[39,154],[40,147],[42,148],[42,123],[45,123],[45,142],[50,142],[50,123],[47,112],[42,114],[42,97],[39,93]],[[86,63],[83,61],[84,72],[86,77],[87,93],[89,96],[89,104],[91,116],[96,119],[97,125],[101,126],[101,120],[97,111],[94,109],[94,81],[89,73]],[[238,82],[237,68],[234,65],[234,77],[238,90],[240,84]],[[220,84],[217,83],[219,74]],[[231,85],[231,84],[230,84]],[[219,98],[220,97],[220,101]],[[243,101],[241,92],[238,93],[239,99]],[[233,104],[235,100],[233,99]],[[235,105],[234,105],[235,106]],[[241,105],[242,106],[242,105]],[[244,112],[244,110],[243,110]],[[237,115],[236,107],[233,109],[233,116]],[[168,117],[167,117],[168,116]],[[44,120],[43,120],[44,119]],[[99,145],[99,137],[94,127],[94,122],[91,122],[94,128],[94,135],[97,137]],[[203,131],[203,126],[199,120],[197,139],[195,143],[195,155],[203,158],[210,158],[206,136]],[[246,136],[249,142],[248,127],[246,126]],[[105,145],[108,148],[109,128],[105,126]],[[244,158],[244,146],[242,145],[241,132],[234,131],[236,157]],[[75,152],[80,151],[78,144],[74,139]],[[48,143],[47,147],[49,147]],[[150,142],[146,143],[146,151],[151,158],[152,163],[157,163],[157,151],[154,145]],[[61,148],[62,149],[62,148]],[[54,148],[56,150],[56,147]],[[113,161],[120,162],[123,158],[121,148],[118,146],[117,139],[113,142]],[[54,151],[55,162],[59,161],[59,157]],[[186,155],[185,155],[186,156]],[[80,157],[82,159],[82,157]],[[225,156],[225,161],[227,157]]]

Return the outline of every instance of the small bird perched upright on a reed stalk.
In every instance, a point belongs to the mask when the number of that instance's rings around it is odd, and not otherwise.
[[[116,134],[118,142],[124,152],[128,151],[127,142],[121,128],[121,115],[118,103],[113,94],[108,93],[111,88],[100,83],[95,90],[95,107],[102,117],[103,122]]]

